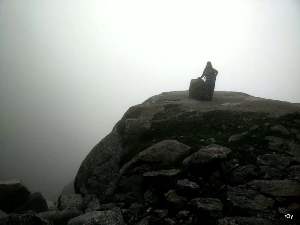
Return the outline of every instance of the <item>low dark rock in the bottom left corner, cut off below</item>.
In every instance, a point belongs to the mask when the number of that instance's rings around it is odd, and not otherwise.
[[[53,223],[44,218],[32,214],[16,214],[0,218],[1,225],[53,225]]]

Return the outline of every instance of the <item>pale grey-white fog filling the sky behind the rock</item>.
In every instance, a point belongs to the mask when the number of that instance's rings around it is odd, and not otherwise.
[[[57,198],[126,110],[187,90],[300,102],[300,2],[0,1],[0,180]]]

